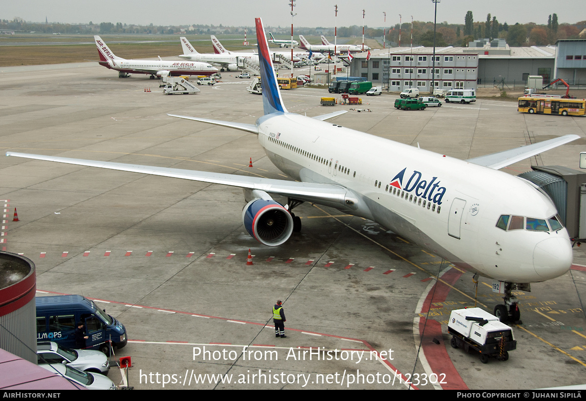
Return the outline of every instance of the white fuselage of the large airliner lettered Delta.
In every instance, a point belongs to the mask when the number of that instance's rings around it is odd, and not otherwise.
[[[456,266],[514,283],[548,280],[570,268],[565,228],[496,227],[500,215],[556,215],[547,196],[521,178],[298,114],[268,114],[257,124],[260,144],[285,174],[339,183],[360,198],[346,212]]]

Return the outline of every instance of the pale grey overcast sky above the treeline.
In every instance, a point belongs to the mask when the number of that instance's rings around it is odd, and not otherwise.
[[[62,23],[122,22],[137,25],[226,25],[254,26],[254,18],[262,17],[267,26],[291,26],[290,0],[0,0],[0,19],[18,16],[26,21]],[[558,3],[551,0],[440,0],[437,21],[464,23],[466,11],[472,11],[474,21],[486,21],[490,13],[500,23],[516,22],[546,24],[547,16],[557,13],[558,22],[575,23],[586,20],[584,0]],[[338,5],[335,17],[334,5]],[[574,6],[570,6],[574,4]],[[366,15],[362,18],[362,10]],[[383,12],[386,12],[386,25]],[[295,0],[294,26],[350,26],[383,27],[399,22],[433,21],[434,4],[431,0],[411,1],[350,1],[350,0]]]

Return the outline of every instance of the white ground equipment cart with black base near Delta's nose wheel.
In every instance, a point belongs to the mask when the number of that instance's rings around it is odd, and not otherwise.
[[[490,356],[506,361],[509,351],[517,348],[513,330],[481,308],[452,311],[448,333],[452,335],[452,348],[463,348],[465,352],[473,349],[480,353],[482,363],[487,363]]]

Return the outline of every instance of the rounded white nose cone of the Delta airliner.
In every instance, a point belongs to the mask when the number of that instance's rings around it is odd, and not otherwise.
[[[570,270],[572,246],[564,237],[543,240],[533,250],[533,267],[544,280],[556,278]]]

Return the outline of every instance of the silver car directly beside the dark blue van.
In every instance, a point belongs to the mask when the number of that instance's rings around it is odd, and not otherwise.
[[[84,372],[108,374],[110,361],[103,352],[90,349],[69,349],[54,341],[37,343],[38,364],[66,363]]]

